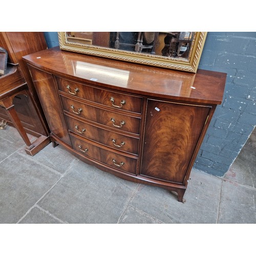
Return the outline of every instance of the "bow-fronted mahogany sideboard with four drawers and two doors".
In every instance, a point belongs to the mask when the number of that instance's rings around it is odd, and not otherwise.
[[[226,74],[144,66],[58,47],[23,57],[53,145],[120,178],[183,196]]]

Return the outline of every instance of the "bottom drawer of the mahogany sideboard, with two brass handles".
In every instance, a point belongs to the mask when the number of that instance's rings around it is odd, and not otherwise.
[[[72,135],[70,137],[74,150],[84,156],[121,170],[122,172],[136,174],[137,159],[105,150]]]

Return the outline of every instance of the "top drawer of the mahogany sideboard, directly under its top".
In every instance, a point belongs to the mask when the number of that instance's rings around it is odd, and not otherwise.
[[[60,91],[114,109],[141,114],[142,98],[98,89],[87,84],[56,77]]]

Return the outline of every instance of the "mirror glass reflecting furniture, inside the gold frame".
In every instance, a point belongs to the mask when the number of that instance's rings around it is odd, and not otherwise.
[[[195,32],[67,32],[67,41],[188,59]]]

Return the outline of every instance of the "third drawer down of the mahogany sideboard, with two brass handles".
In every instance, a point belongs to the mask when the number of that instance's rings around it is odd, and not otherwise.
[[[69,130],[84,138],[96,141],[120,150],[138,155],[139,139],[130,136],[121,135],[97,126],[81,122],[75,118],[66,115]]]

